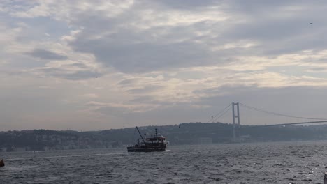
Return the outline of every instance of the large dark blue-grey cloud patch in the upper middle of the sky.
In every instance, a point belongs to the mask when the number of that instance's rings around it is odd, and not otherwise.
[[[133,34],[133,33],[130,33]],[[83,36],[82,36],[83,37]],[[99,40],[78,38],[71,43],[80,52],[93,53],[107,66],[122,72],[148,72],[165,68],[201,66],[208,51],[190,41],[180,43],[121,43],[122,35],[110,35]],[[128,37],[128,36],[127,36]]]

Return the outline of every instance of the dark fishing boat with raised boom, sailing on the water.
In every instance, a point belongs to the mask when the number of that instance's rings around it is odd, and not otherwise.
[[[136,130],[138,130],[138,127],[136,127]],[[153,151],[166,151],[167,148],[167,140],[166,137],[163,137],[162,135],[157,133],[157,128],[155,129],[155,135],[152,135],[150,137],[145,137],[140,133],[140,130],[138,130],[138,134],[140,135],[140,139],[138,139],[138,143],[134,146],[128,146],[127,151],[128,152],[153,152]]]

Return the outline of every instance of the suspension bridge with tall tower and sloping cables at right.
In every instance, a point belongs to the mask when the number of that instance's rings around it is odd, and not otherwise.
[[[256,126],[241,126],[240,123],[240,107],[243,109],[250,110],[252,112],[259,112],[261,114],[269,114],[270,116],[278,116],[278,117],[284,117],[284,118],[296,118],[300,120],[299,122],[291,122],[291,123],[271,123],[268,125],[256,125]],[[285,125],[304,125],[304,124],[313,124],[313,123],[327,123],[327,118],[309,118],[309,117],[303,117],[303,116],[291,116],[287,114],[281,114],[278,112],[271,112],[265,109],[252,107],[249,105],[245,105],[240,102],[232,102],[227,107],[222,109],[217,114],[211,116],[210,120],[207,122],[215,122],[218,121],[220,118],[224,117],[227,112],[232,112],[232,121],[233,121],[233,139],[238,140],[240,139],[240,133],[242,129],[244,128],[258,128],[258,127],[273,127],[273,126],[285,126]],[[230,118],[228,118],[230,119]],[[280,122],[280,120],[278,121]]]

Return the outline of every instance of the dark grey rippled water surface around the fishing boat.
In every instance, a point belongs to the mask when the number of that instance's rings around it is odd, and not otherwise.
[[[0,153],[0,183],[324,183],[327,141]]]

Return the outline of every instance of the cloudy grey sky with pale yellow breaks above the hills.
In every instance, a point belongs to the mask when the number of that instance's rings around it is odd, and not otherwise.
[[[231,102],[327,118],[326,11],[322,0],[1,0],[0,130],[206,123]]]

